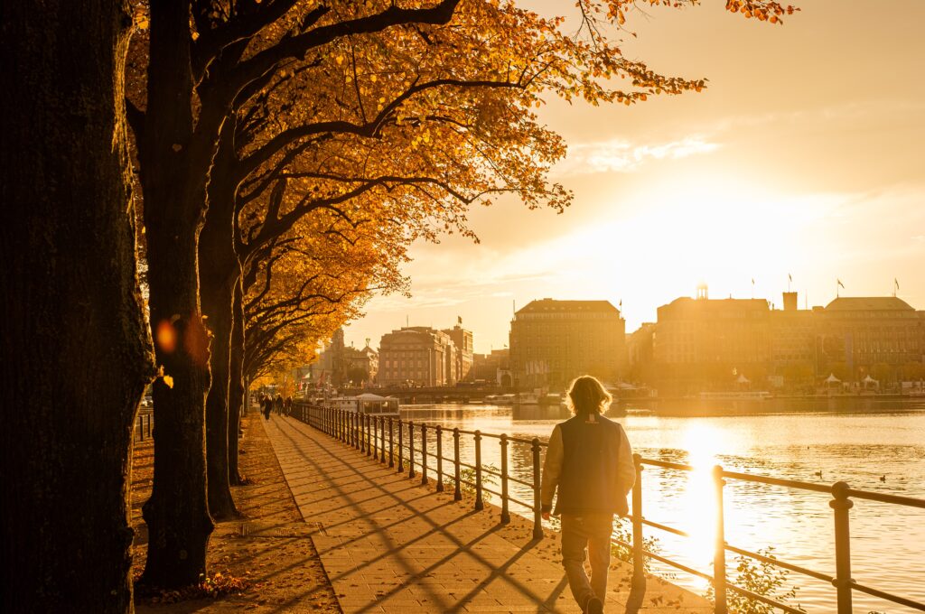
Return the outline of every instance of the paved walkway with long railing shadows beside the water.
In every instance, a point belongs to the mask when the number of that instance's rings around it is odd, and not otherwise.
[[[532,540],[518,517],[472,510],[292,418],[265,424],[344,612],[580,612],[558,535]],[[632,567],[613,561],[606,610],[697,612],[702,598],[649,578],[627,608]]]

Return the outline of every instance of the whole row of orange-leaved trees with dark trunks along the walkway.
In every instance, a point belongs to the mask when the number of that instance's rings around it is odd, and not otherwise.
[[[566,207],[547,97],[704,87],[623,57],[634,9],[581,0],[568,30],[490,0],[5,6],[5,608],[131,610],[130,428],[155,375],[143,581],[196,582],[237,513],[245,378],[402,290],[413,240],[472,237],[472,203]]]

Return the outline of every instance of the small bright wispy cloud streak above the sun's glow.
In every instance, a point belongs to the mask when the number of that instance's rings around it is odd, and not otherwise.
[[[630,173],[651,160],[677,160],[690,155],[709,154],[721,145],[692,135],[680,141],[634,144],[623,139],[578,143],[569,147],[569,154],[556,166],[557,175],[594,173]]]

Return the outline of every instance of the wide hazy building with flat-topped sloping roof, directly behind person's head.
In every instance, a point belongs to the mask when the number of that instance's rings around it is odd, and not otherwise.
[[[520,389],[562,390],[578,375],[616,380],[626,323],[609,301],[531,301],[511,321],[511,370]]]

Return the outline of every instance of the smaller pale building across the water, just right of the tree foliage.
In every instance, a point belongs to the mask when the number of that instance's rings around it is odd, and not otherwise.
[[[459,378],[456,344],[428,326],[403,326],[379,341],[381,386],[454,386]]]

